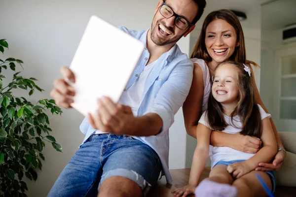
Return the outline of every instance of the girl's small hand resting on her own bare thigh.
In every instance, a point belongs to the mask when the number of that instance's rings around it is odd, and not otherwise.
[[[227,166],[227,171],[232,174],[235,179],[242,177],[252,170],[254,170],[254,168],[246,162],[234,163]]]

